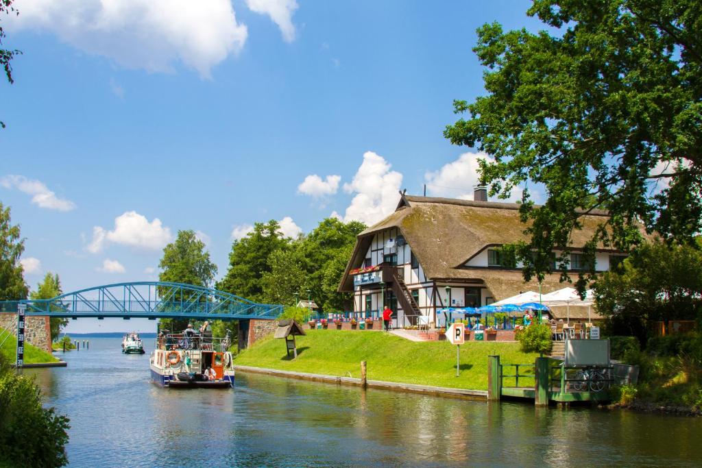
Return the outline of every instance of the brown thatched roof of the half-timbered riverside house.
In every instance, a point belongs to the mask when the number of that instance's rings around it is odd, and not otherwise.
[[[597,226],[606,221],[604,211],[583,215],[583,229],[573,232],[571,247],[584,246]],[[523,283],[521,272],[516,270],[464,266],[486,247],[527,240],[517,203],[403,195],[394,213],[359,234],[339,290],[353,290],[348,272],[361,265],[373,235],[392,227],[402,233],[429,279],[484,280],[497,300],[514,295],[518,290],[538,288],[537,283]],[[604,250],[604,246],[599,247]],[[562,287],[558,279],[558,274],[550,275],[542,285],[543,292]],[[515,287],[515,282],[521,286]]]

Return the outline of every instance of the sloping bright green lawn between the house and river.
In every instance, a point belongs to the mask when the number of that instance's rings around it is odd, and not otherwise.
[[[360,377],[367,361],[369,380],[385,380],[438,387],[487,389],[487,356],[498,354],[502,363],[534,363],[538,354],[519,351],[518,343],[466,342],[461,346],[461,376],[456,377],[456,347],[449,342],[411,342],[388,333],[344,330],[305,330],[296,337],[298,359],[286,357],[284,340],[256,342],[234,360],[255,366],[324,375]],[[505,368],[514,374],[513,368]],[[513,385],[505,378],[504,385]],[[531,384],[533,385],[533,380]],[[520,385],[528,385],[526,379]]]

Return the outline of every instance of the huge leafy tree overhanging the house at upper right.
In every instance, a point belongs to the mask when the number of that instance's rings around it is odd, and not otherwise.
[[[534,0],[528,11],[555,34],[478,29],[487,95],[454,102],[444,135],[494,156],[481,181],[502,197],[524,186],[524,277],[543,279],[581,217],[607,208],[597,241],[628,250],[640,225],[689,243],[702,229],[702,7],[698,0]],[[658,183],[658,188],[655,187]],[[534,205],[529,185],[548,199]],[[536,253],[534,253],[536,252]],[[594,266],[594,262],[590,261]],[[590,270],[587,279],[594,278]],[[585,287],[580,275],[578,288]]]

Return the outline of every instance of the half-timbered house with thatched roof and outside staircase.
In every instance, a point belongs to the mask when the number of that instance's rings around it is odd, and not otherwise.
[[[574,251],[606,221],[603,211],[583,216],[583,229],[572,236]],[[400,319],[435,316],[437,307],[449,303],[486,305],[538,290],[536,281],[524,283],[520,269],[499,265],[496,247],[522,239],[516,203],[401,194],[394,213],[359,234],[338,289],[355,293],[356,312],[372,313],[390,302]],[[611,257],[623,255],[600,246],[595,268],[608,269]],[[571,265],[577,274],[578,253]],[[562,287],[559,274],[541,284],[543,293]]]

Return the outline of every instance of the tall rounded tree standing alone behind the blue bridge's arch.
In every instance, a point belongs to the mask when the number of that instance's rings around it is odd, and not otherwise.
[[[217,274],[217,265],[210,260],[205,244],[197,239],[192,230],[178,231],[176,240],[164,247],[159,267],[159,281],[205,288],[211,286]],[[187,326],[187,319],[161,319],[161,326],[171,331],[183,330]]]

